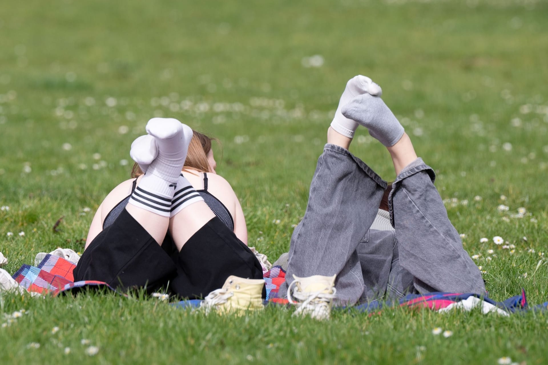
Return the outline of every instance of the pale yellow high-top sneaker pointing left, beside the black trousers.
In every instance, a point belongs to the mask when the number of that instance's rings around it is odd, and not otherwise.
[[[246,310],[263,310],[262,279],[244,279],[231,275],[220,289],[209,293],[200,305],[200,308],[209,314],[212,310],[219,313],[241,313]]]

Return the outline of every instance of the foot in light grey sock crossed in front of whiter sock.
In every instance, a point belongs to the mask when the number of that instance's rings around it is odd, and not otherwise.
[[[358,95],[344,105],[341,112],[366,127],[369,134],[386,147],[396,144],[403,135],[402,125],[378,96]]]

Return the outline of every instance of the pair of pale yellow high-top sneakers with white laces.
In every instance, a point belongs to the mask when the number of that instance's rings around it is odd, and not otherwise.
[[[298,277],[288,288],[288,299],[296,305],[294,316],[310,316],[316,320],[328,320],[335,298],[335,277],[314,275]],[[200,308],[206,314],[212,310],[219,314],[242,314],[246,310],[263,310],[262,279],[244,279],[231,275],[220,289],[209,293]]]

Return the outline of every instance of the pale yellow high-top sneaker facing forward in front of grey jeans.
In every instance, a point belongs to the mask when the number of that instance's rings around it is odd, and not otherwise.
[[[293,277],[295,280],[287,289],[289,303],[297,306],[293,315],[310,315],[316,320],[328,320],[336,293],[336,275],[313,275],[308,277],[293,275]]]

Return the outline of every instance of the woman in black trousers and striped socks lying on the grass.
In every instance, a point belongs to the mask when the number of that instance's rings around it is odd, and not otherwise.
[[[169,118],[152,118],[146,131],[130,152],[144,175],[119,184],[99,206],[75,281],[180,298],[203,298],[231,275],[262,284],[236,194],[214,173],[211,139]]]

